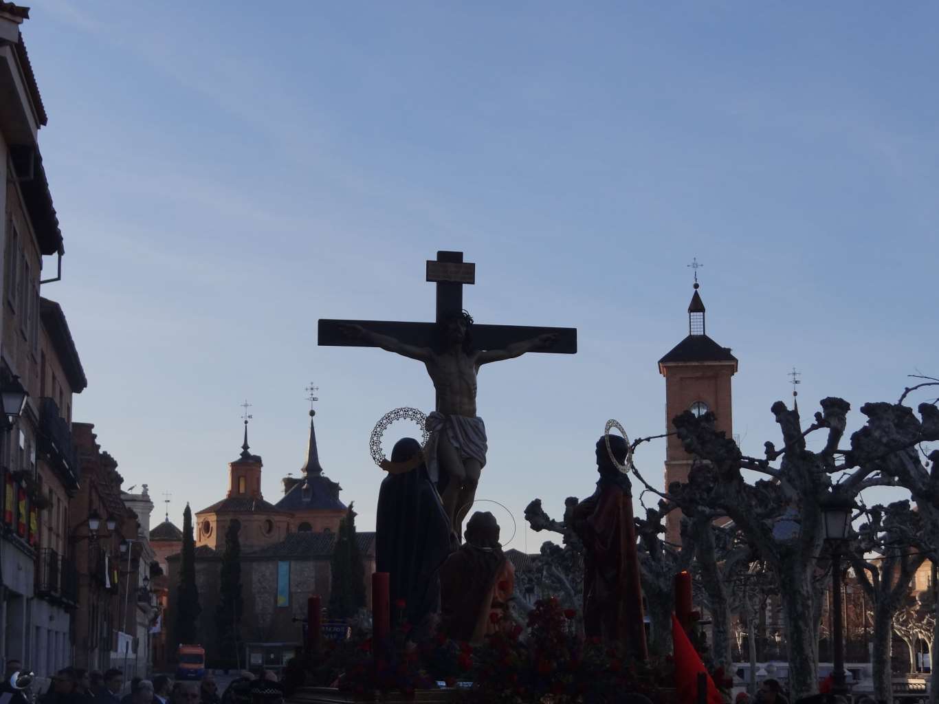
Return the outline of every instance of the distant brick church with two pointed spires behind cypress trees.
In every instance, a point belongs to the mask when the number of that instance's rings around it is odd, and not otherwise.
[[[285,478],[285,496],[276,504],[269,503],[261,494],[262,467],[261,457],[250,451],[246,426],[239,458],[228,465],[226,496],[195,513],[196,584],[202,607],[199,633],[211,660],[216,652],[215,620],[225,533],[237,520],[244,600],[240,637],[244,643],[254,644],[253,657],[261,660],[254,665],[263,663],[276,668],[283,666],[292,654],[291,644],[300,645],[300,622],[294,619],[306,617],[307,597],[318,594],[324,605],[329,604],[330,560],[339,521],[347,509],[339,500],[341,487],[331,482],[320,466],[313,413],[301,478]],[[157,532],[160,540],[154,537]],[[370,603],[375,533],[358,535]],[[175,527],[168,522],[151,531],[158,556],[174,543],[175,537]],[[181,546],[181,542],[178,544]],[[177,594],[180,558],[178,552],[165,558],[170,609]],[[172,616],[164,622],[172,627]],[[170,643],[172,638],[171,632]]]

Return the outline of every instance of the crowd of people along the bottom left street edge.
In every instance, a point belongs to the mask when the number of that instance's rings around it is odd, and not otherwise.
[[[239,672],[220,695],[215,678],[207,673],[200,681],[173,681],[167,675],[152,680],[131,679],[125,691],[124,673],[119,669],[105,672],[80,667],[65,667],[55,673],[46,692],[31,693],[19,689],[11,679],[23,672],[17,660],[7,663],[0,694],[9,693],[8,704],[282,704],[284,689],[270,670],[257,674]]]

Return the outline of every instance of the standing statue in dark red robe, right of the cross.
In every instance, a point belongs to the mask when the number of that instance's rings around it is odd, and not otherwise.
[[[610,436],[609,441],[622,465],[625,440]],[[584,545],[584,634],[622,645],[627,653],[644,660],[647,650],[632,486],[610,459],[606,437],[596,443],[596,466],[600,473],[596,491],[571,512],[574,531]]]

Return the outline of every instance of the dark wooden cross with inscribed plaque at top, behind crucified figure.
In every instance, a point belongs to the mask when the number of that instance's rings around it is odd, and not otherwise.
[[[476,283],[476,265],[463,261],[462,252],[438,252],[437,259],[427,262],[426,281],[437,284],[437,321],[463,310],[463,286]],[[340,329],[343,325],[361,325],[381,335],[391,335],[403,343],[432,347],[435,343],[436,323],[408,323],[385,320],[332,320],[321,318],[317,329],[317,344],[346,347],[374,347],[360,339],[350,339]],[[531,340],[553,333],[558,340],[549,349],[552,352],[573,355],[577,353],[576,328],[538,328],[522,325],[472,326],[473,345],[480,350],[504,349],[510,344]]]

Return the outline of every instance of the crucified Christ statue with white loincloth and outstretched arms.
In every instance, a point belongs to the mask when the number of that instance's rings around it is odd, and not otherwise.
[[[549,332],[508,344],[504,349],[481,351],[473,346],[472,324],[472,317],[466,311],[447,316],[436,326],[437,344],[434,346],[404,343],[361,325],[340,326],[349,338],[423,361],[427,368],[437,390],[437,410],[427,418],[427,429],[434,434],[431,444],[436,444],[437,455],[428,459],[431,462],[436,459],[447,475],[443,508],[458,538],[462,536],[463,520],[472,506],[485,466],[485,424],[476,415],[479,368],[489,362],[521,357],[526,352],[546,351],[558,340],[556,333]]]

